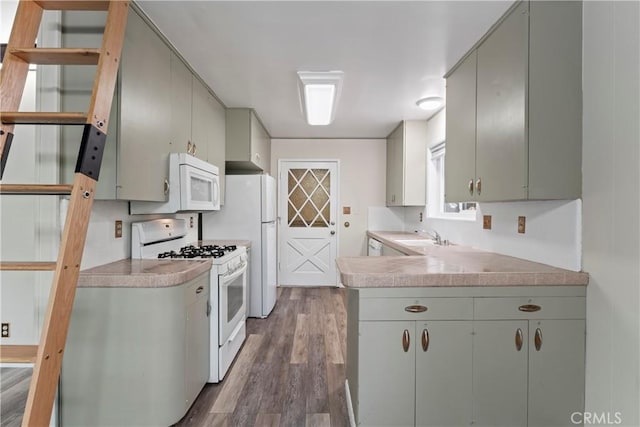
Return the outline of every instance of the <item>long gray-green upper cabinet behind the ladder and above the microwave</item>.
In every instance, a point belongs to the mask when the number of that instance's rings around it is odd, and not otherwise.
[[[105,16],[65,11],[63,45],[100,47]],[[95,66],[62,67],[64,111],[86,110],[94,75]],[[62,127],[61,182],[73,178],[81,136],[80,128]],[[166,201],[173,152],[190,152],[218,166],[224,189],[225,107],[133,7],[96,198]]]

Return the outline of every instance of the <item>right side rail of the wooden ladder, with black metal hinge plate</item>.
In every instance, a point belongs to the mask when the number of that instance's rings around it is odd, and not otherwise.
[[[111,1],[87,124],[76,164],[58,263],[36,356],[23,426],[47,425],[62,366],[89,217],[100,172],[129,1]]]

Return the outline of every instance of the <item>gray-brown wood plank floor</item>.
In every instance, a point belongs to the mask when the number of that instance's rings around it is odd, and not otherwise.
[[[267,319],[220,384],[207,384],[176,427],[348,426],[345,290],[278,288]],[[2,369],[2,427],[20,426],[31,369]]]

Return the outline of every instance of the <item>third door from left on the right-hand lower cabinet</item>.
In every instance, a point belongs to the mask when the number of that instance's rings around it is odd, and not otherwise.
[[[474,425],[527,425],[528,330],[526,320],[474,322]]]

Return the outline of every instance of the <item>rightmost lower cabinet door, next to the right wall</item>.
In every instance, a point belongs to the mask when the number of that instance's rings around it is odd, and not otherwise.
[[[529,322],[529,426],[570,426],[584,410],[584,320]]]

